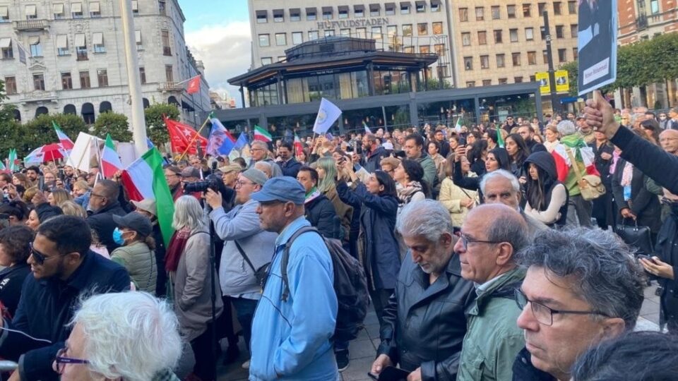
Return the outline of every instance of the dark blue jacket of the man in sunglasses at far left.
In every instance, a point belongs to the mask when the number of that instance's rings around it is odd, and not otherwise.
[[[3,330],[0,356],[18,361],[21,380],[57,380],[52,361],[71,334],[72,327],[68,324],[78,308],[78,299],[83,294],[129,290],[129,284],[129,274],[124,267],[92,251],[65,282],[54,278],[37,280],[28,274],[16,315],[11,324],[5,321],[4,327],[41,341]]]

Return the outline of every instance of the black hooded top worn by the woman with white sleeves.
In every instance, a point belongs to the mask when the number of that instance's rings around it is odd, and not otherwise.
[[[532,177],[529,176],[530,163],[535,164],[538,168],[537,171],[539,174],[538,181],[533,180]],[[555,159],[551,154],[549,154],[549,152],[545,151],[534,152],[532,155],[528,156],[527,159],[525,159],[525,164],[523,164],[523,168],[525,169],[525,173],[528,174],[527,176],[528,182],[525,184],[525,194],[527,196],[528,202],[530,202],[530,206],[533,207],[533,209],[539,211],[547,210],[549,204],[551,203],[551,194],[553,192],[553,188],[558,184],[561,184],[561,182],[558,181],[558,171],[556,169]],[[542,194],[544,195],[544,200],[542,201],[541,204],[540,202],[537,201],[539,194],[538,192],[539,186],[542,187]],[[567,193],[567,188],[565,188],[565,193]],[[568,202],[569,195],[567,195],[565,204],[559,210],[560,218],[556,222],[554,222],[555,225],[558,226],[565,225],[567,219]],[[549,226],[552,226],[554,224],[550,224]]]

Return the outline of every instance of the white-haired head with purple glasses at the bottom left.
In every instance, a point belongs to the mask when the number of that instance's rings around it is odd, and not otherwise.
[[[73,331],[52,363],[61,380],[179,381],[182,354],[172,306],[145,292],[100,294],[73,316]]]

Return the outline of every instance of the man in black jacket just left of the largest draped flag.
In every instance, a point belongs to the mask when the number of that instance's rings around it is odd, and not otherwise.
[[[113,222],[113,214],[124,216],[127,214],[118,202],[120,186],[115,181],[100,180],[90,193],[89,209],[92,214],[87,218],[88,224],[97,232],[101,243],[106,245],[109,253],[118,248],[113,241],[113,231],[117,227]]]

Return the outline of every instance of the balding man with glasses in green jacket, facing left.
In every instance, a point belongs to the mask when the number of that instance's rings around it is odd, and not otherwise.
[[[466,310],[458,381],[511,380],[511,364],[525,346],[516,326],[521,310],[511,300],[525,277],[515,256],[527,245],[528,225],[511,207],[480,205],[466,216],[454,251],[477,298]]]

